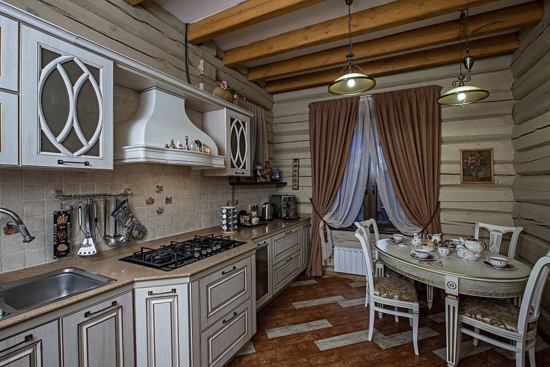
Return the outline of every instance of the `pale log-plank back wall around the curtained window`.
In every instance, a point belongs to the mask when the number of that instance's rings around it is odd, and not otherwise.
[[[478,220],[512,225],[514,206],[514,149],[511,116],[514,97],[509,70],[510,55],[478,60],[474,67],[473,83],[483,86],[491,96],[483,103],[464,107],[443,107],[441,144],[441,224],[443,233],[470,235]],[[386,92],[421,85],[439,84],[448,90],[458,66],[432,67],[377,78],[374,92]],[[279,189],[294,193],[298,210],[311,213],[311,160],[309,153],[308,105],[313,101],[333,98],[326,87],[285,92],[274,95],[275,164],[285,173],[289,182],[292,158],[300,158],[300,189],[291,186]],[[495,185],[460,185],[459,150],[463,148],[492,147],[495,151]]]

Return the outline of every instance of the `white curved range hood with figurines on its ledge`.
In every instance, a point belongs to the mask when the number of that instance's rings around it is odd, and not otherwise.
[[[212,154],[164,148],[170,139],[188,136],[208,145]],[[115,129],[115,163],[157,162],[223,168],[225,157],[205,132],[193,125],[185,112],[185,98],[157,87],[140,92],[140,107],[135,116]]]

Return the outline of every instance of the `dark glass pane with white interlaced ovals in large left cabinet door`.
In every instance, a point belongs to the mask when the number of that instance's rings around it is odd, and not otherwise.
[[[100,68],[76,56],[40,48],[39,154],[101,156]]]

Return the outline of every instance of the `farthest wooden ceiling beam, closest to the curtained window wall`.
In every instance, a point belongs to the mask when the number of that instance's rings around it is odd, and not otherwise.
[[[503,34],[470,41],[470,54],[479,59],[482,57],[514,52],[518,46],[519,37],[517,33]],[[381,76],[395,74],[397,72],[406,72],[408,70],[423,69],[425,67],[458,63],[457,54],[456,45],[448,45],[441,48],[369,61],[360,64],[360,67],[362,67],[364,74],[369,76]],[[289,90],[315,87],[317,85],[327,85],[338,78],[340,70],[342,69],[338,67],[336,69],[322,70],[320,72],[270,81],[265,85],[265,90],[274,94],[287,92]]]

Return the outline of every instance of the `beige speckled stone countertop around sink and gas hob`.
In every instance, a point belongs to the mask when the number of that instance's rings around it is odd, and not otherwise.
[[[16,280],[21,280],[26,277],[41,275],[44,273],[49,273],[50,271],[57,271],[65,268],[78,268],[91,271],[105,277],[111,277],[115,279],[116,282],[100,286],[96,289],[92,289],[91,291],[63,298],[62,300],[59,300],[57,302],[52,302],[51,304],[47,304],[39,308],[34,308],[30,311],[20,313],[19,315],[14,315],[12,317],[1,319],[0,330],[19,324],[19,322],[22,322],[23,320],[44,315],[45,313],[58,310],[59,308],[69,306],[70,304],[86,300],[89,297],[111,291],[121,286],[131,284],[133,282],[140,282],[144,280],[163,280],[173,277],[190,277],[197,273],[201,273],[202,271],[206,271],[213,266],[221,264],[222,262],[226,262],[228,260],[231,260],[232,258],[236,258],[243,253],[253,251],[254,249],[256,249],[256,244],[254,243],[254,240],[258,238],[261,238],[265,235],[274,235],[278,232],[284,231],[289,227],[295,227],[297,224],[308,222],[309,220],[309,217],[301,217],[298,220],[290,221],[275,219],[264,226],[254,228],[241,228],[239,229],[239,232],[231,235],[230,237],[234,240],[247,242],[246,244],[242,244],[241,246],[228,251],[223,251],[223,253],[218,253],[201,261],[197,261],[186,266],[181,266],[181,268],[175,269],[173,271],[162,271],[139,264],[122,262],[120,261],[120,258],[123,258],[126,255],[130,255],[134,251],[139,251],[141,247],[157,249],[163,244],[170,243],[170,240],[184,241],[194,238],[195,235],[209,235],[212,233],[214,235],[221,235],[220,228],[210,227],[206,229],[201,229],[199,231],[181,233],[179,235],[171,235],[169,237],[126,245],[123,247],[115,247],[111,250],[100,251],[96,255],[90,256],[89,258],[79,258],[78,256],[75,256],[71,258],[57,260],[54,262],[48,262],[46,264],[31,266],[25,269],[1,273],[0,284],[14,282]]]

